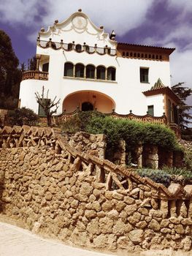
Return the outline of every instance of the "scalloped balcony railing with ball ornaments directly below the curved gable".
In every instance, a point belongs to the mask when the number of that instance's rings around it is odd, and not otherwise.
[[[116,49],[111,49],[107,47],[107,45],[104,48],[99,48],[97,45],[90,46],[86,45],[85,43],[84,45],[74,44],[74,42],[66,44],[63,42],[63,40],[61,40],[61,42],[53,42],[51,39],[49,41],[43,41],[37,38],[37,45],[39,45],[41,48],[53,48],[54,50],[74,50],[77,53],[82,53],[85,51],[89,54],[98,53],[99,55],[108,54],[110,56],[115,56],[117,53]]]

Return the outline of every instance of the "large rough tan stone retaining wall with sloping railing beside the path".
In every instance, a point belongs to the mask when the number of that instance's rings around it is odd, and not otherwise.
[[[35,233],[110,251],[191,249],[191,185],[141,178],[53,129],[0,130],[0,172],[1,213]]]

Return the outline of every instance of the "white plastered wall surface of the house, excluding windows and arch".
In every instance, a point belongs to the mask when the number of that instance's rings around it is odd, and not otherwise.
[[[78,13],[77,13],[78,14]],[[73,16],[74,17],[74,16]],[[70,27],[70,20],[65,23],[65,29]],[[83,41],[90,45],[95,45],[99,42],[99,46],[105,46],[110,44],[113,48],[115,42],[109,40],[108,37],[96,30],[88,21],[88,31],[92,31],[92,35],[87,31],[77,33],[74,29],[66,31],[64,41],[82,44]],[[97,34],[94,34],[97,31]],[[63,37],[63,32],[58,33],[55,30],[55,34],[51,32],[53,41],[59,41]],[[41,37],[48,39],[50,34],[41,34]],[[103,38],[103,40],[102,40]],[[109,46],[110,46],[109,45]],[[86,52],[77,53],[76,51],[64,51],[63,49],[54,50],[52,48],[41,48],[37,46],[37,54],[50,56],[49,65],[49,80],[23,80],[20,84],[20,99],[21,107],[26,106],[33,109],[36,113],[38,106],[34,97],[34,92],[42,91],[42,86],[45,86],[45,90],[49,89],[49,97],[53,99],[55,96],[61,99],[61,103],[58,108],[58,114],[62,113],[62,104],[67,95],[74,93],[75,91],[98,91],[103,94],[107,94],[115,102],[117,113],[126,114],[129,110],[136,115],[145,115],[147,112],[147,105],[154,105],[155,116],[162,116],[162,102],[161,96],[156,96],[153,99],[150,97],[147,99],[143,91],[149,90],[154,83],[161,78],[165,86],[170,86],[170,71],[168,61],[153,61],[142,59],[128,59],[116,56],[104,55],[101,56],[98,53],[89,54]],[[116,68],[116,81],[102,81],[91,80],[84,78],[64,78],[64,63],[71,61],[74,64],[82,63],[84,65],[93,64],[95,66],[104,65],[105,67]],[[140,67],[149,68],[149,83],[140,83],[139,70]],[[155,100],[157,100],[155,102]],[[149,102],[154,102],[149,103]]]

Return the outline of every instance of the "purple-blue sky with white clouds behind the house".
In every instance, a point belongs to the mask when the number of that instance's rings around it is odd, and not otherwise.
[[[0,29],[12,39],[20,62],[34,55],[39,29],[82,9],[118,42],[176,48],[172,84],[192,88],[192,0],[0,0]],[[192,105],[192,97],[188,99]]]

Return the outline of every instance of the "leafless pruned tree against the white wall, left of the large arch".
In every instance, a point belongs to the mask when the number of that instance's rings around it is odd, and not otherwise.
[[[45,97],[45,88],[42,86],[42,95],[40,96],[38,92],[35,93],[37,103],[39,103],[40,106],[42,106],[42,109],[45,111],[45,115],[47,116],[47,125],[48,127],[51,127],[51,117],[54,113],[57,112],[58,104],[60,102],[60,99],[58,99],[57,102],[55,102],[56,96],[53,100],[48,98],[49,90],[47,90],[47,95]],[[55,110],[50,110],[51,108],[54,108]]]

